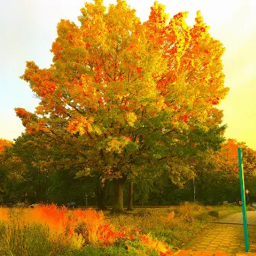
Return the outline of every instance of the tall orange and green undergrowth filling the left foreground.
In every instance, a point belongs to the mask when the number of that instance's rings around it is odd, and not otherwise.
[[[171,247],[150,234],[115,226],[95,210],[65,206],[0,208],[0,254],[171,255]]]

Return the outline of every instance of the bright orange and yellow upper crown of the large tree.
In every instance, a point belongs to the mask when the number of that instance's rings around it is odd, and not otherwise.
[[[187,12],[174,15],[168,23],[165,7],[158,2],[143,24],[125,1],[106,10],[103,2],[85,3],[81,27],[59,22],[50,69],[27,62],[21,78],[42,98],[40,108],[65,114],[70,112],[67,104],[79,105],[89,109],[89,115],[105,112],[120,125],[130,126],[127,114],[134,114],[139,122],[142,116],[156,117],[164,110],[172,120],[184,123],[206,120],[201,109],[219,104],[229,90],[223,87],[224,48],[210,37],[200,12],[191,28],[185,22]],[[177,105],[181,107],[173,110]],[[115,110],[109,111],[112,107]],[[16,112],[24,119],[21,109]],[[78,113],[72,114],[71,123]],[[74,129],[68,127],[69,132]]]

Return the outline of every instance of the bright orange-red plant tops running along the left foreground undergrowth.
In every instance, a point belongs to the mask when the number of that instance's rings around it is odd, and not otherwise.
[[[65,206],[58,207],[55,204],[40,205],[34,209],[25,208],[9,210],[0,207],[0,220],[4,222],[14,222],[21,227],[27,224],[39,223],[46,225],[50,230],[50,238],[55,239],[58,235],[62,242],[70,242],[77,239],[82,234],[83,243],[96,246],[114,245],[120,240],[130,240],[138,238],[142,245],[159,252],[161,255],[171,255],[171,250],[165,242],[160,242],[150,235],[131,234],[133,229],[126,229],[121,226],[117,227],[110,224],[104,217],[103,212],[95,210],[67,210]],[[85,232],[79,231],[79,227],[84,227]],[[136,230],[136,229],[135,229]],[[129,246],[128,246],[129,248]]]

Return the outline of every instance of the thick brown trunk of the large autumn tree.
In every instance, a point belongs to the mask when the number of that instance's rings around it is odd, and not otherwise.
[[[114,179],[114,202],[110,213],[123,213],[123,187],[126,178]]]

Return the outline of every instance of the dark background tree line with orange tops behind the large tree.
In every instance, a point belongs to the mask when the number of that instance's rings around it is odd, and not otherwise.
[[[75,201],[104,209],[113,203],[111,181],[102,184],[99,176],[78,177],[78,168],[53,168],[41,170],[37,162],[42,161],[42,148],[33,145],[33,137],[23,134],[14,143],[1,139],[0,202],[17,203],[27,200],[30,203],[48,202],[62,205]],[[255,162],[256,153],[238,143],[235,139],[222,142],[217,152],[199,158],[195,165],[196,200],[205,204],[229,203],[240,200],[238,180],[237,148],[242,147],[245,171],[245,188],[250,202],[256,200]],[[43,150],[45,152],[45,150]],[[48,152],[50,154],[50,152]],[[47,153],[45,152],[47,155]],[[127,205],[129,184],[124,187],[124,205]],[[182,201],[194,201],[194,181],[188,180],[178,187],[163,171],[158,178],[142,176],[133,181],[133,205],[176,205]]]

